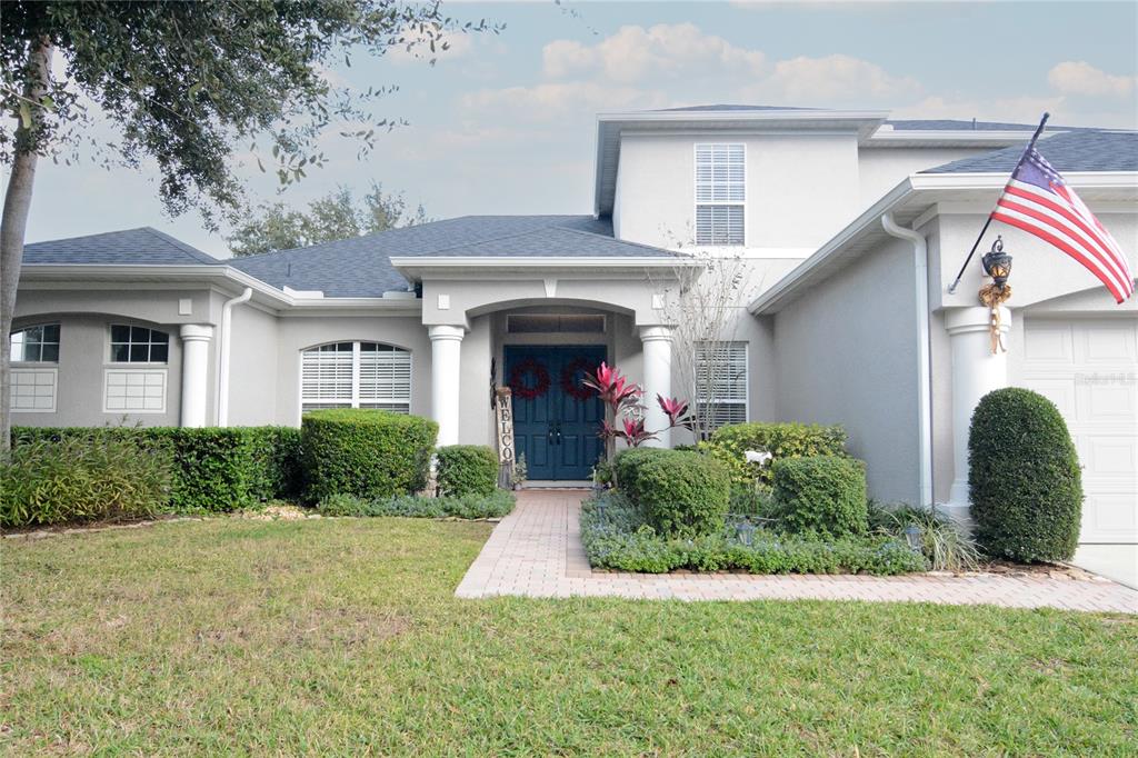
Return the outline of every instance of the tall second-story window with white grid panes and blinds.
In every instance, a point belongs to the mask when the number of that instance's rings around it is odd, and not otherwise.
[[[747,149],[743,145],[695,146],[695,244],[743,245]]]

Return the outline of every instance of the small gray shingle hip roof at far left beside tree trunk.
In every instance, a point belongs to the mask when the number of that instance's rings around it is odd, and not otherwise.
[[[150,226],[32,242],[24,263],[113,265],[218,265],[222,262]]]

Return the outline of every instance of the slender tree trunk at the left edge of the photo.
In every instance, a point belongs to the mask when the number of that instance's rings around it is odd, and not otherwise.
[[[24,97],[33,102],[48,91],[51,69],[51,44],[41,40],[28,56],[32,71]],[[24,259],[24,234],[27,215],[32,209],[32,187],[35,183],[35,164],[39,159],[34,120],[41,118],[39,106],[32,108],[31,129],[17,116],[15,158],[11,176],[3,197],[0,216],[0,452],[11,446],[11,322],[16,315],[16,290],[19,287],[19,266]]]

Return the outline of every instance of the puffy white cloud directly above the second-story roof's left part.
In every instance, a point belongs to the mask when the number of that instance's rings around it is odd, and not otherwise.
[[[694,24],[621,26],[593,46],[555,40],[542,50],[546,76],[597,75],[622,83],[683,73],[724,73],[757,76],[766,56],[740,48],[721,36],[704,34]]]

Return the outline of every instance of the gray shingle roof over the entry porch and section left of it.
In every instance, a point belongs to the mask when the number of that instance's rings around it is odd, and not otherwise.
[[[321,290],[327,297],[379,297],[409,282],[391,256],[510,257],[668,256],[667,250],[612,237],[612,223],[593,216],[462,216],[419,226],[265,253],[230,263],[283,288]]]

